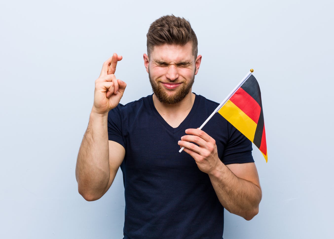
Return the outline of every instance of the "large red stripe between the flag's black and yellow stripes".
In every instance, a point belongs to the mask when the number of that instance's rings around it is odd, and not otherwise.
[[[258,123],[261,107],[242,88],[239,88],[234,95],[230,98],[230,101],[236,105],[240,110],[242,110],[249,118],[251,118],[255,123]]]

